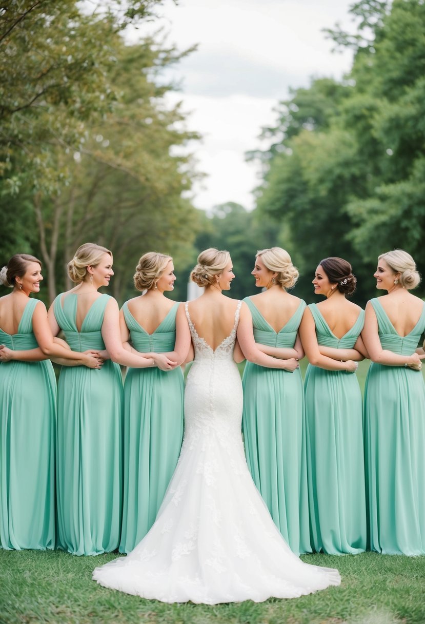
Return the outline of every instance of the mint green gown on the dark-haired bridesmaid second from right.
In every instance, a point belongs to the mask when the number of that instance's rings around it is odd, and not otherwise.
[[[317,342],[352,349],[363,329],[362,310],[351,329],[338,339],[317,305],[308,306]],[[366,495],[363,415],[355,373],[327,371],[308,364],[305,376],[307,477],[313,549],[332,555],[366,548]]]

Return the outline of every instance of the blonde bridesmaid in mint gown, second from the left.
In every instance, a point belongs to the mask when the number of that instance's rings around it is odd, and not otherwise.
[[[99,371],[62,368],[58,384],[57,512],[59,547],[75,555],[118,548],[122,521],[123,387],[117,363],[155,366],[155,354],[133,354],[120,339],[117,301],[101,295],[113,275],[112,253],[85,243],[68,264],[77,286],[49,310],[56,335],[75,349],[107,349]],[[166,358],[161,358],[161,361]],[[173,363],[166,363],[168,368]]]

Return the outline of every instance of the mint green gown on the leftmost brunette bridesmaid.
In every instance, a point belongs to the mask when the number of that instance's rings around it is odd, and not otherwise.
[[[0,344],[37,349],[29,299],[17,334]],[[56,381],[50,360],[0,363],[0,547],[55,547]]]

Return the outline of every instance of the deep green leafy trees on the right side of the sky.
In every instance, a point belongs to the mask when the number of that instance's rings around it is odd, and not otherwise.
[[[264,131],[277,140],[254,155],[265,168],[260,215],[289,225],[284,246],[303,270],[326,255],[350,260],[364,302],[379,253],[404,248],[425,264],[425,4],[361,1],[351,13],[354,36],[327,31],[354,47],[350,74],[292,92]],[[302,289],[309,298],[307,282]]]

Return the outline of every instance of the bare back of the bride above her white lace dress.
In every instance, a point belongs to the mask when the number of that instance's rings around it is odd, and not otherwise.
[[[204,293],[199,299],[189,302],[189,316],[194,328],[213,351],[234,328],[237,303],[237,300],[221,293]]]

